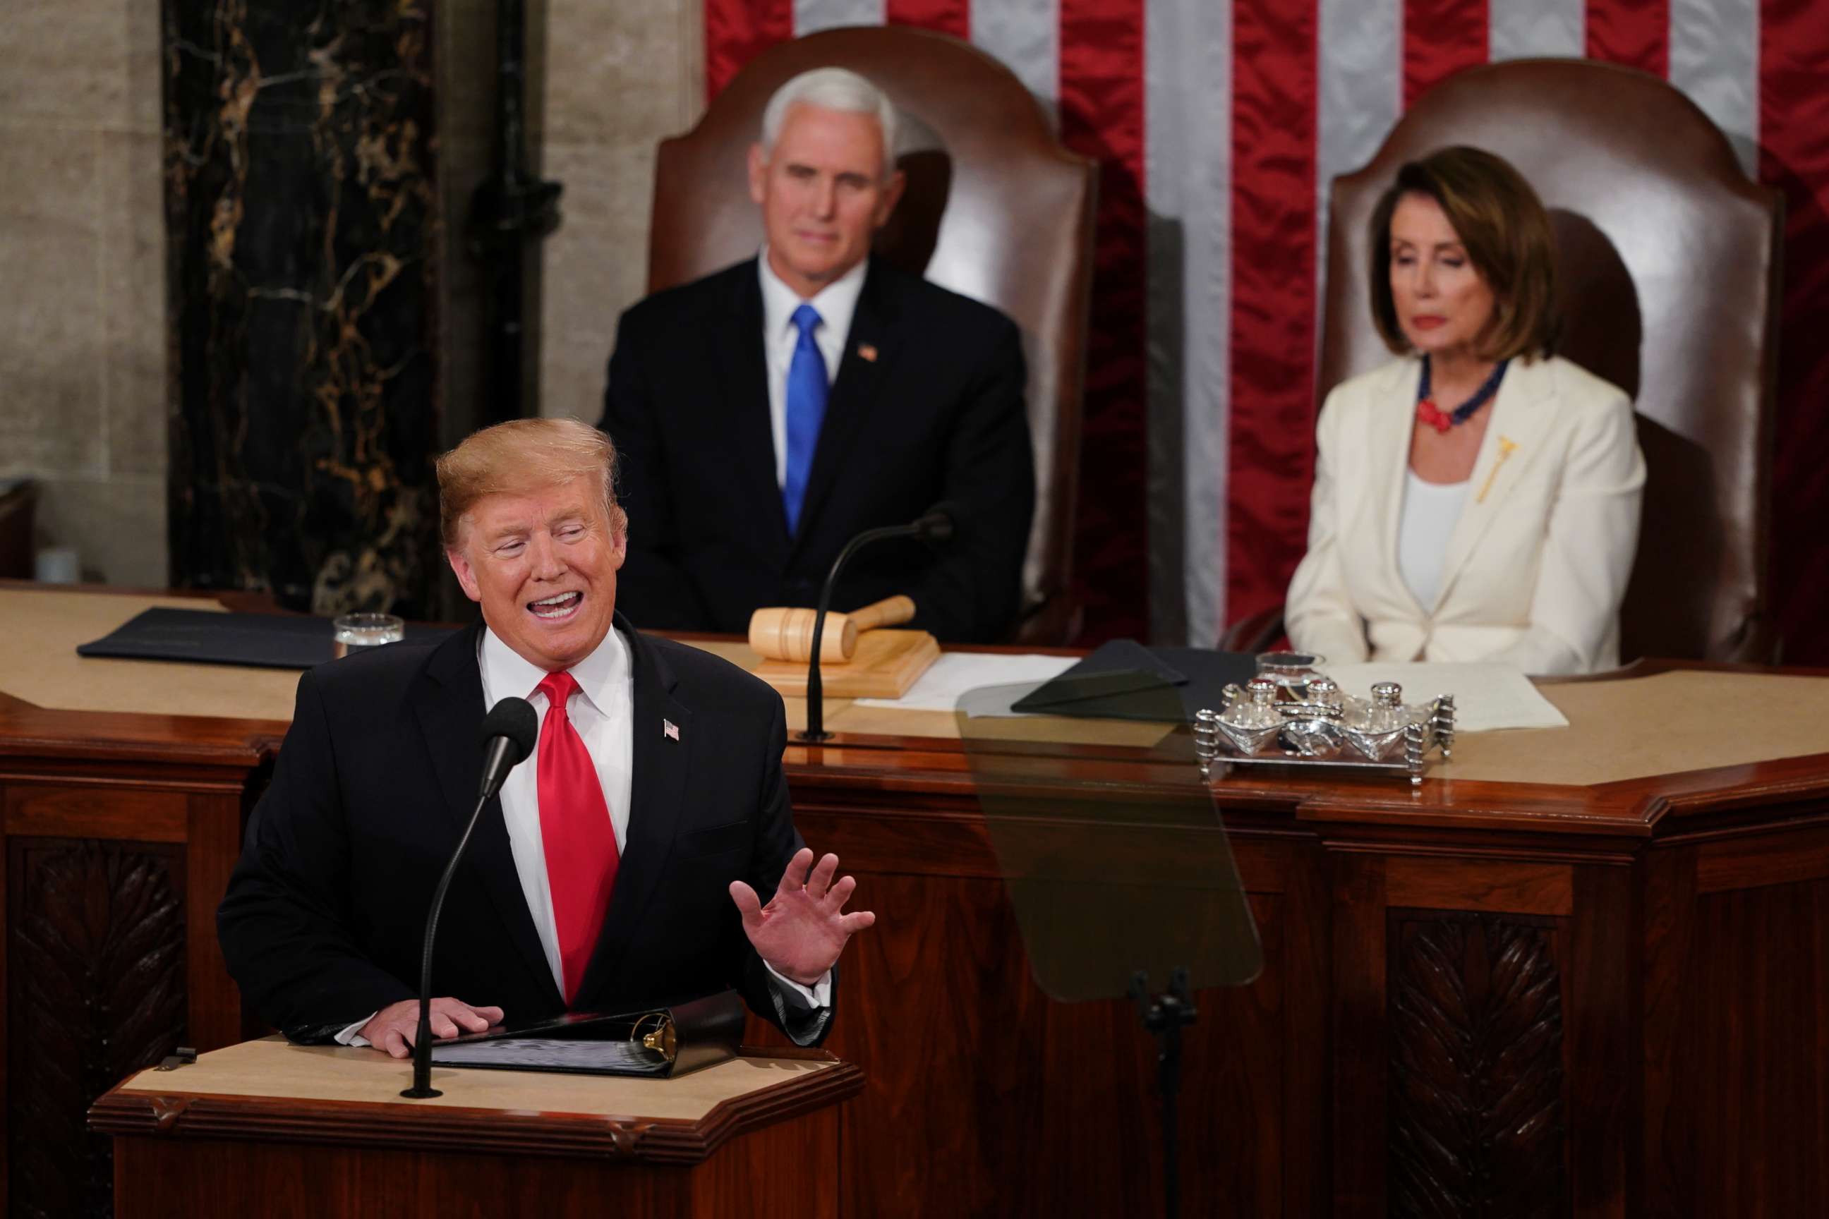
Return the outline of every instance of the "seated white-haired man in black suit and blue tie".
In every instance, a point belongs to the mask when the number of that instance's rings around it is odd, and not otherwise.
[[[904,185],[894,126],[856,73],[788,80],[750,150],[763,252],[622,316],[602,426],[642,627],[743,632],[759,607],[814,605],[852,535],[938,501],[955,541],[860,552],[832,609],[905,592],[942,640],[1015,625],[1035,512],[1022,342],[995,309],[871,258]]]

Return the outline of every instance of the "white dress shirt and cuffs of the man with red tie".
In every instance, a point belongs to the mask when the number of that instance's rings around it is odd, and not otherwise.
[[[477,645],[477,667],[483,671],[483,705],[494,707],[503,698],[527,698],[547,722],[547,696],[538,693],[547,671],[525,660],[503,643],[494,631],[483,631]],[[635,779],[635,680],[629,673],[629,641],[620,631],[611,631],[594,652],[571,667],[578,689],[565,705],[565,715],[578,729],[583,747],[596,764],[596,779],[604,786],[604,804],[609,806],[609,826],[616,835],[616,853],[629,839],[629,793]],[[534,916],[540,949],[547,954],[547,969],[560,994],[565,994],[565,967],[560,958],[560,932],[552,917],[552,885],[547,879],[545,843],[540,835],[540,766],[538,747],[525,762],[508,771],[501,784],[501,819],[508,828],[508,850],[514,853],[514,872],[521,877],[521,896],[527,912]],[[768,894],[759,894],[765,901]],[[783,1002],[799,1009],[829,1007],[832,1002],[832,970],[805,987],[783,978],[775,967],[763,961],[775,980]],[[490,996],[465,996],[465,1002],[490,1003]],[[362,1025],[375,1012],[362,1016],[342,1033],[342,1045],[368,1045]]]

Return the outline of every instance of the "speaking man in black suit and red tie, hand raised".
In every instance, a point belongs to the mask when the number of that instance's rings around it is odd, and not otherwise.
[[[722,989],[796,1042],[825,1034],[832,967],[874,916],[843,912],[852,879],[794,832],[779,694],[616,612],[613,462],[576,420],[472,435],[439,459],[439,510],[483,621],[300,678],[218,912],[229,972],[293,1040],[408,1053],[426,908],[510,694],[540,744],[446,896],[433,1034]]]

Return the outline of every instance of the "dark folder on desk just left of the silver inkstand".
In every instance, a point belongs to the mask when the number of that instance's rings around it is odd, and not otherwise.
[[[1193,718],[1202,707],[1222,705],[1225,685],[1247,682],[1253,673],[1257,660],[1249,652],[1143,647],[1136,640],[1112,640],[1013,702],[1011,711],[1094,720],[1156,718],[1156,702],[1138,700],[1136,694],[1176,687],[1183,715]]]

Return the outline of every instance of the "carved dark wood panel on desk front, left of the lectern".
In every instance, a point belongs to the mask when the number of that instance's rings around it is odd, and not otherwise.
[[[108,1215],[90,1104],[185,1034],[181,846],[7,839],[7,1210]]]

